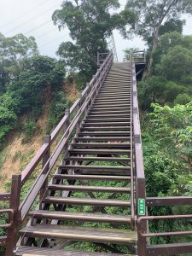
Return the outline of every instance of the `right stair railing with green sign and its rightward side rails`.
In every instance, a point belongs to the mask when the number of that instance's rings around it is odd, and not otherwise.
[[[150,245],[150,237],[160,236],[187,236],[192,235],[192,231],[183,230],[176,232],[156,232],[150,233],[148,221],[158,221],[163,219],[188,219],[192,220],[192,215],[168,215],[168,216],[148,216],[148,207],[172,207],[172,206],[192,206],[192,196],[172,196],[172,197],[146,197],[146,180],[143,168],[143,150],[141,140],[141,130],[139,123],[139,111],[137,102],[137,81],[135,71],[135,53],[132,57],[132,94],[133,94],[133,129],[135,145],[135,166],[136,166],[136,194],[137,194],[137,253],[138,256],[146,255],[173,255],[179,253],[191,253],[192,242],[157,244]],[[138,53],[137,53],[138,55]]]

